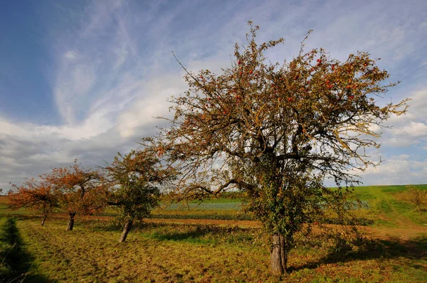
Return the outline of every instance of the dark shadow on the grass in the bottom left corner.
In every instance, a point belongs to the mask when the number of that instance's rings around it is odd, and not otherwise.
[[[7,272],[0,274],[0,282],[56,282],[33,271],[36,270],[33,266],[35,259],[23,245],[15,218],[8,218],[1,232],[0,241],[11,245],[11,248],[4,255],[3,264],[8,268]]]

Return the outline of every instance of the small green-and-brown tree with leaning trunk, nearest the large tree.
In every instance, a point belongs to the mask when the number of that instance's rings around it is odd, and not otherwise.
[[[159,186],[174,178],[174,170],[162,166],[152,149],[118,153],[105,167],[112,188],[112,203],[120,208],[119,219],[125,223],[119,242],[125,242],[135,220],[146,218],[159,205]]]

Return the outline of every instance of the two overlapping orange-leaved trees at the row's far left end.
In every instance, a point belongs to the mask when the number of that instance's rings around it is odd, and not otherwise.
[[[23,186],[9,191],[11,206],[33,207],[46,216],[53,209],[70,216],[67,230],[73,230],[76,214],[91,215],[105,208],[108,190],[99,171],[84,168],[76,162],[58,167],[27,180]],[[44,223],[43,220],[43,223]],[[43,225],[42,223],[42,225]]]

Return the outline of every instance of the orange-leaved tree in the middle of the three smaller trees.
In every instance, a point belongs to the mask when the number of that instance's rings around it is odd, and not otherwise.
[[[73,230],[77,213],[97,213],[107,204],[107,188],[97,170],[75,163],[65,168],[54,168],[43,178],[56,188],[60,194],[60,209],[70,216],[67,231]]]

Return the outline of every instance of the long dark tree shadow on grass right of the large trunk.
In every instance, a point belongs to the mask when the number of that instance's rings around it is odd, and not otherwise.
[[[427,258],[427,236],[416,237],[411,240],[401,240],[398,237],[389,240],[364,240],[359,251],[352,251],[348,247],[334,250],[316,262],[309,262],[300,267],[291,268],[292,271],[300,269],[315,269],[322,264],[345,263],[355,260],[386,260],[404,257],[408,260],[422,260]],[[415,269],[425,269],[423,265],[410,264]]]

